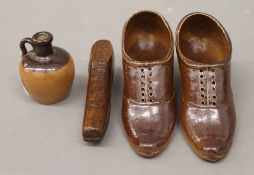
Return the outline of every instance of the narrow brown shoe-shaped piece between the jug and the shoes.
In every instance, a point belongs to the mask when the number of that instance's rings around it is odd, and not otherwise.
[[[110,116],[114,58],[110,41],[97,41],[91,50],[89,79],[82,128],[85,141],[100,141]]]

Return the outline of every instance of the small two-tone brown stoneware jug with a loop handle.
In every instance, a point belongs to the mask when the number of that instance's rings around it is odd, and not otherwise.
[[[20,42],[22,61],[19,73],[28,94],[42,104],[63,100],[70,91],[74,78],[74,62],[68,52],[52,46],[53,36],[36,33]],[[33,50],[27,52],[25,44]]]

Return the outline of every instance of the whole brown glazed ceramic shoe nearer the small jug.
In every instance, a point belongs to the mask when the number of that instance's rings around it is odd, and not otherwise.
[[[135,152],[163,151],[175,125],[173,37],[166,20],[151,11],[134,14],[122,37],[124,94],[122,117]]]

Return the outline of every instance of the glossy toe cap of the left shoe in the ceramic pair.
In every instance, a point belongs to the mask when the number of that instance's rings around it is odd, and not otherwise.
[[[129,104],[123,123],[135,152],[143,157],[153,157],[162,152],[175,125],[175,113],[169,104]]]

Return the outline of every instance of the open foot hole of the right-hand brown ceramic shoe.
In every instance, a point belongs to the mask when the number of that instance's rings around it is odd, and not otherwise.
[[[178,51],[185,59],[203,64],[221,63],[231,57],[231,41],[223,26],[205,13],[191,13],[177,27]]]

